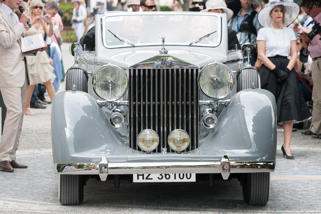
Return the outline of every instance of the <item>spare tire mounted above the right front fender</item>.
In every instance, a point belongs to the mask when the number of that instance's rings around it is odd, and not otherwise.
[[[245,89],[251,89],[252,83],[256,88],[260,87],[260,75],[255,68],[243,68],[237,74],[237,92]]]

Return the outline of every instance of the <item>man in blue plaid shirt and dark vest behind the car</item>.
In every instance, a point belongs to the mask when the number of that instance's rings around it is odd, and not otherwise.
[[[257,12],[251,7],[252,0],[240,0],[242,8],[230,21],[230,27],[236,31],[239,43],[243,45],[251,42],[256,47],[257,31],[262,28],[257,20]],[[256,49],[256,48],[255,48]],[[244,59],[247,62],[247,59]],[[257,52],[250,56],[251,65],[256,69],[261,67],[261,60],[257,58]]]

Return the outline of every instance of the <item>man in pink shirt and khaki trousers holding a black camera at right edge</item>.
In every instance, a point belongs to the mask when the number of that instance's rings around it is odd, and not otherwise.
[[[303,10],[316,22],[310,33],[301,33],[300,44],[307,49],[313,60],[312,80],[314,84],[312,91],[313,111],[312,128],[309,131],[301,132],[304,135],[313,135],[313,139],[321,139],[321,2],[320,0],[303,0]]]

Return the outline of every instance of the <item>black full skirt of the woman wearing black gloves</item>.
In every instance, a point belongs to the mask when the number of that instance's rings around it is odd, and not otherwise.
[[[271,62],[281,70],[289,63],[286,56],[269,57]],[[277,83],[277,76],[273,71],[262,64],[260,70],[261,89],[270,91],[276,100],[277,121],[304,121],[311,117],[310,110],[300,91],[294,68],[286,81]]]

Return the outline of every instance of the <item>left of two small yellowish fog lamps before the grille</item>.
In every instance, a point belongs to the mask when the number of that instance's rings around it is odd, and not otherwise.
[[[158,134],[151,129],[145,129],[138,134],[137,144],[144,151],[152,151],[159,144]]]

